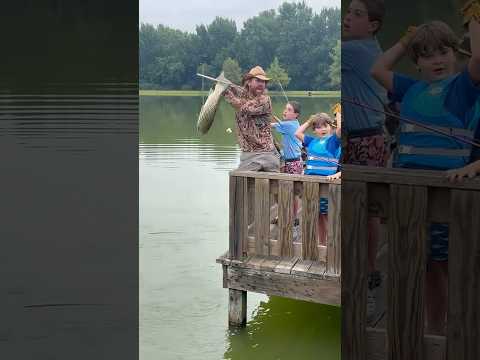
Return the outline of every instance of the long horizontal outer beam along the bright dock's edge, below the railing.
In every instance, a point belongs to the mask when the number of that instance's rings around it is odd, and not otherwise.
[[[228,267],[228,287],[321,304],[340,304],[338,281]]]

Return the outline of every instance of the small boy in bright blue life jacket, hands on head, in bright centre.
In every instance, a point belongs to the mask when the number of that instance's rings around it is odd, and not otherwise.
[[[305,175],[321,175],[329,178],[338,177],[341,155],[342,121],[340,112],[336,113],[337,125],[326,113],[312,115],[302,124],[295,136],[307,149],[307,166]],[[304,135],[312,127],[316,136]],[[333,130],[336,127],[335,131]],[[328,199],[320,198],[320,214],[317,229],[320,245],[326,245]]]

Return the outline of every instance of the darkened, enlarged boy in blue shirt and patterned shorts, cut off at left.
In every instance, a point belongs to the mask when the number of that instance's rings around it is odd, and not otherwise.
[[[342,23],[342,97],[382,108],[387,94],[370,75],[370,69],[382,49],[377,34],[383,25],[385,3],[383,0],[352,0]],[[345,147],[342,162],[345,164],[385,167],[389,147],[383,130],[383,114],[366,110],[354,104],[343,104]],[[378,204],[369,206],[373,214]],[[381,274],[376,269],[377,244],[380,235],[380,218],[368,217],[368,298],[367,318],[373,321],[376,294],[381,286]]]

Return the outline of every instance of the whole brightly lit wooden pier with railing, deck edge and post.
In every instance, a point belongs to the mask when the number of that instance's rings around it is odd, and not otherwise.
[[[230,324],[245,324],[247,291],[340,304],[340,188],[320,176],[230,173],[229,249],[217,259],[229,289]],[[321,197],[329,200],[326,246],[317,241]]]

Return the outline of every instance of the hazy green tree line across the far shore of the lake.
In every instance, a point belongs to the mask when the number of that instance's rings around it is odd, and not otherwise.
[[[248,19],[217,17],[194,33],[142,23],[139,29],[141,89],[200,89],[197,72],[241,75],[262,66],[288,90],[340,88],[340,9],[315,13],[305,2],[283,3]],[[208,84],[210,85],[210,84]]]

